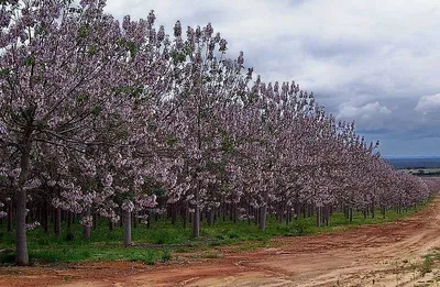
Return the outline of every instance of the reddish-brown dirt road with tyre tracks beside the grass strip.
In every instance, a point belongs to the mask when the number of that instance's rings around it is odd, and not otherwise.
[[[272,247],[178,254],[169,264],[99,262],[0,267],[0,286],[440,286],[440,197],[404,220],[274,239]],[[219,254],[219,258],[212,254]]]

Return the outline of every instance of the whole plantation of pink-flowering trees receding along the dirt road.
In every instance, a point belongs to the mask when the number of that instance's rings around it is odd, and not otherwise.
[[[437,185],[393,170],[312,92],[264,82],[210,24],[167,35],[153,11],[119,22],[103,0],[0,3],[0,217],[19,265],[26,230],[63,221],[85,238],[122,222],[128,246],[152,218],[194,238],[201,220],[323,225],[400,212]]]

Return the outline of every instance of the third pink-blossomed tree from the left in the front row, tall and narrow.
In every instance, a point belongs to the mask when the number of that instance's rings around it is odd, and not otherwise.
[[[170,202],[189,203],[193,235],[199,236],[200,212],[206,205],[216,206],[220,185],[222,155],[222,113],[229,102],[245,89],[250,75],[243,75],[243,55],[237,60],[224,58],[227,41],[213,33],[210,24],[188,27],[186,40],[182,26],[174,27],[172,56],[179,75],[178,87],[168,106],[173,111],[164,119],[167,126],[169,173],[175,178]],[[173,164],[174,163],[174,164]]]

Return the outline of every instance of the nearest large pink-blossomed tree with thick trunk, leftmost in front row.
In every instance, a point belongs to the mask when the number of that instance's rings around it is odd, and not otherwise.
[[[34,183],[32,169],[51,146],[68,158],[91,146],[127,144],[131,135],[121,134],[121,128],[143,100],[139,95],[145,87],[153,90],[162,75],[156,55],[148,52],[152,43],[145,44],[152,21],[141,21],[133,31],[125,22],[121,29],[103,13],[105,4],[3,1],[0,10],[0,140],[6,158],[0,165],[18,174],[19,265],[29,263],[26,186]],[[165,41],[162,33],[156,37]],[[68,176],[66,186],[78,190],[75,173]]]

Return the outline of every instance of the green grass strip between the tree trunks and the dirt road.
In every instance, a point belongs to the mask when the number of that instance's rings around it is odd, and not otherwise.
[[[343,232],[364,224],[399,220],[422,208],[424,206],[419,206],[417,209],[413,208],[403,213],[388,210],[385,219],[378,211],[374,219],[371,217],[364,219],[362,212],[354,212],[352,222],[345,219],[342,212],[337,211],[333,212],[329,225],[320,228],[316,227],[315,217],[306,219],[299,217],[289,224],[279,223],[274,217],[270,217],[264,232],[258,231],[254,222],[217,221],[208,225],[204,221],[199,239],[193,239],[190,227],[184,229],[183,222],[177,221],[173,225],[169,220],[155,221],[153,219],[150,229],[141,224],[132,229],[133,246],[129,247],[122,245],[122,228],[118,227],[110,231],[108,221],[99,220],[96,229],[91,231],[90,239],[82,239],[82,228],[79,223],[75,223],[70,231],[63,225],[59,238],[56,238],[52,231],[45,234],[42,228],[31,230],[28,232],[28,243],[31,264],[136,261],[152,265],[156,262],[176,260],[178,254],[185,253],[196,254],[194,256],[202,258],[220,257],[221,254],[213,251],[220,245],[234,245],[239,251],[252,251],[268,246],[272,244],[270,240],[275,236]],[[14,232],[7,232],[6,224],[0,225],[0,264],[13,264],[14,243]],[[197,255],[198,252],[205,253]]]

